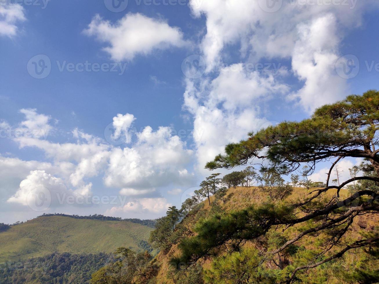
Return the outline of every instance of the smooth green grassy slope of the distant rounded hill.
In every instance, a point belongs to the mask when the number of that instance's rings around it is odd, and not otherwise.
[[[112,253],[117,247],[138,251],[138,242],[148,240],[152,230],[128,221],[39,217],[0,233],[0,262],[53,252]]]

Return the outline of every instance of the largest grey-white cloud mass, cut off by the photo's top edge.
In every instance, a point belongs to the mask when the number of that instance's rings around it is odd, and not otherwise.
[[[288,93],[288,98],[299,100],[306,111],[345,95],[346,80],[334,70],[341,37],[346,28],[360,25],[363,12],[376,9],[377,1],[340,5],[283,1],[276,2],[276,12],[268,12],[264,3],[209,0],[198,5],[197,0],[190,1],[193,14],[207,19],[200,45],[207,71],[229,59],[228,45],[239,44],[241,57],[249,62],[291,58],[292,71],[304,87]]]

